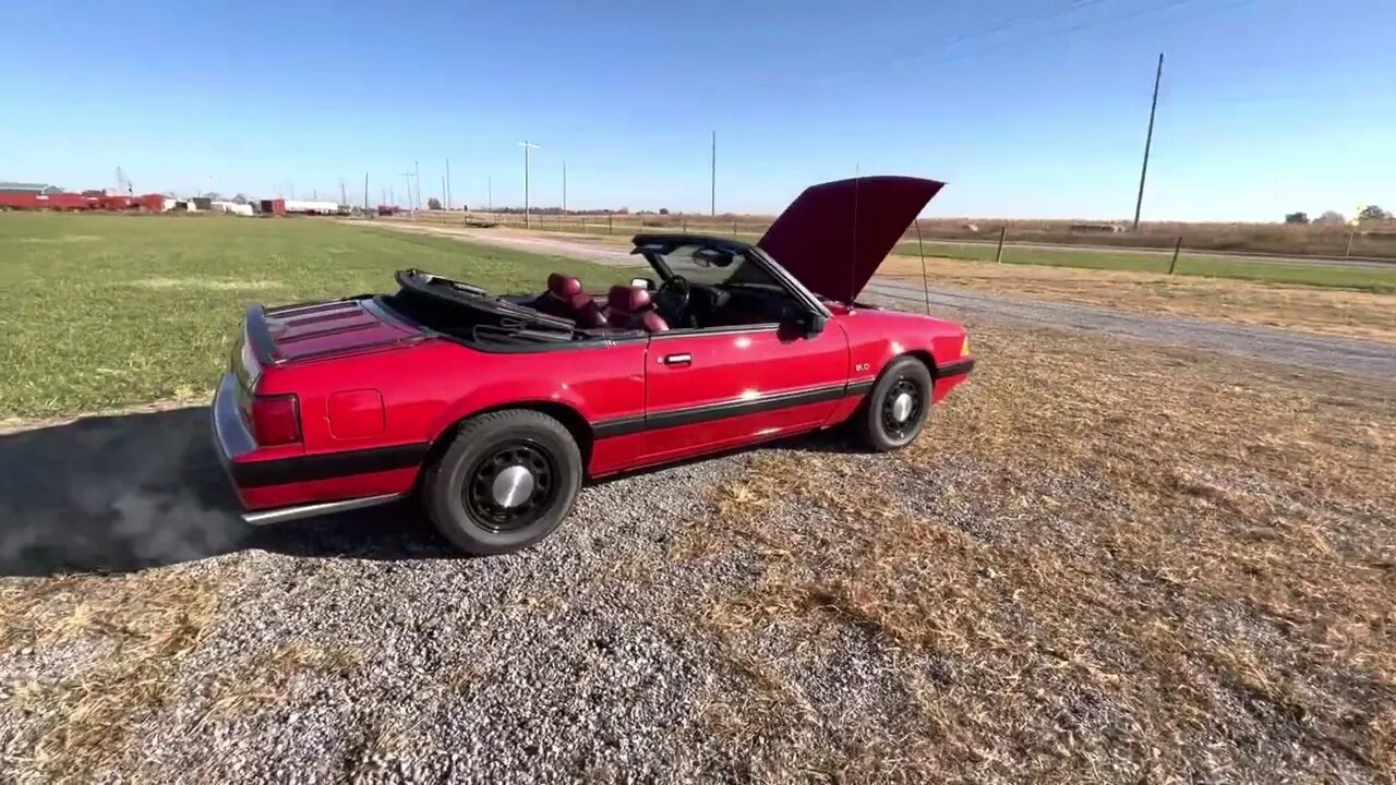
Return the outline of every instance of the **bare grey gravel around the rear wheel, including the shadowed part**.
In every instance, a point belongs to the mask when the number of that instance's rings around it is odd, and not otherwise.
[[[207,418],[197,406],[0,436],[0,575],[147,567],[73,578],[68,591],[98,592],[91,619],[102,595],[158,601],[176,578],[216,602],[133,729],[154,781],[616,782],[730,770],[698,728],[726,676],[687,603],[740,577],[740,563],[674,564],[666,552],[702,514],[704,489],[748,455],[591,486],[540,546],[461,559],[405,506],[244,527]],[[25,712],[7,698],[103,672],[112,651],[80,638],[0,652],[0,781],[11,782],[7,767],[32,756],[45,711],[63,707]]]

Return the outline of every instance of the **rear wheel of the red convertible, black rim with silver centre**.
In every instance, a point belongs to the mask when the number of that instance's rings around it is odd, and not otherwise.
[[[571,432],[530,409],[463,422],[422,483],[423,504],[459,550],[496,556],[553,534],[582,486]]]

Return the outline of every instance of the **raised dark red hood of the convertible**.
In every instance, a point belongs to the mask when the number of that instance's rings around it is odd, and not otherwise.
[[[810,186],[757,247],[817,295],[853,302],[945,183],[853,177]]]

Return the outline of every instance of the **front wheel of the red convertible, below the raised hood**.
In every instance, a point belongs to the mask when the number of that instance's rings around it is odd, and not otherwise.
[[[853,415],[854,441],[874,453],[906,447],[931,416],[933,390],[926,363],[910,356],[896,358],[882,370],[863,406]]]

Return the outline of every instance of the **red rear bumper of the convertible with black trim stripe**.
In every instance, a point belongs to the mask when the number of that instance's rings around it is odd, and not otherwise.
[[[237,377],[232,373],[225,373],[218,384],[209,419],[214,451],[244,508],[242,518],[253,525],[387,504],[406,494],[401,489],[410,486],[415,474],[412,469],[398,469],[306,480],[304,476],[297,476],[304,472],[296,472],[293,467],[285,472],[268,471],[283,467],[282,461],[243,461],[257,450],[257,441],[237,406]],[[272,480],[269,475],[278,474],[285,474],[286,482]]]

